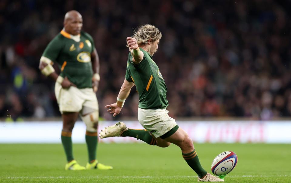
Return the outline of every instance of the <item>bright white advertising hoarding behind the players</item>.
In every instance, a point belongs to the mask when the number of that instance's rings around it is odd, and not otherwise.
[[[115,124],[102,121],[99,129]],[[141,129],[138,121],[125,121],[129,128]],[[290,121],[177,121],[196,143],[289,143]],[[0,143],[61,143],[62,122],[0,123]],[[86,126],[76,122],[73,143],[85,143]],[[141,142],[132,137],[99,139],[104,143]]]

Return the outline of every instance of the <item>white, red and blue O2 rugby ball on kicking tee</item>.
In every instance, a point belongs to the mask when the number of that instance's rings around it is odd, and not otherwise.
[[[212,161],[211,171],[214,175],[228,174],[236,166],[237,156],[232,151],[225,151],[218,154]]]

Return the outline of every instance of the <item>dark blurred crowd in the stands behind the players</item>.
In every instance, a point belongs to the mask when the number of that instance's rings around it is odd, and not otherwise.
[[[99,54],[97,98],[106,120],[113,118],[104,106],[116,102],[125,76],[126,37],[147,23],[163,35],[153,60],[167,84],[171,117],[290,117],[289,7],[275,0],[1,0],[0,118],[60,116],[54,82],[38,64],[72,9]],[[136,117],[137,110],[133,87],[119,117]]]

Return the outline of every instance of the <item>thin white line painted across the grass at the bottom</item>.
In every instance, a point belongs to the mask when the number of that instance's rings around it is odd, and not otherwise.
[[[244,178],[244,177],[291,177],[291,175],[229,175],[227,177],[237,177],[237,178]],[[76,177],[66,177],[66,176],[59,176],[59,177],[7,177],[8,179],[23,179],[23,178],[53,178],[53,179],[62,179],[62,178],[76,178]],[[79,178],[197,178],[197,176],[88,176],[88,177],[79,177]]]

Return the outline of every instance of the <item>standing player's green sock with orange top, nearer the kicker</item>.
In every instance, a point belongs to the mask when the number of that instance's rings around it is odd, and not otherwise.
[[[96,149],[98,144],[98,134],[97,132],[89,132],[86,131],[86,144],[88,148],[88,156],[89,162],[94,161],[96,159]]]

